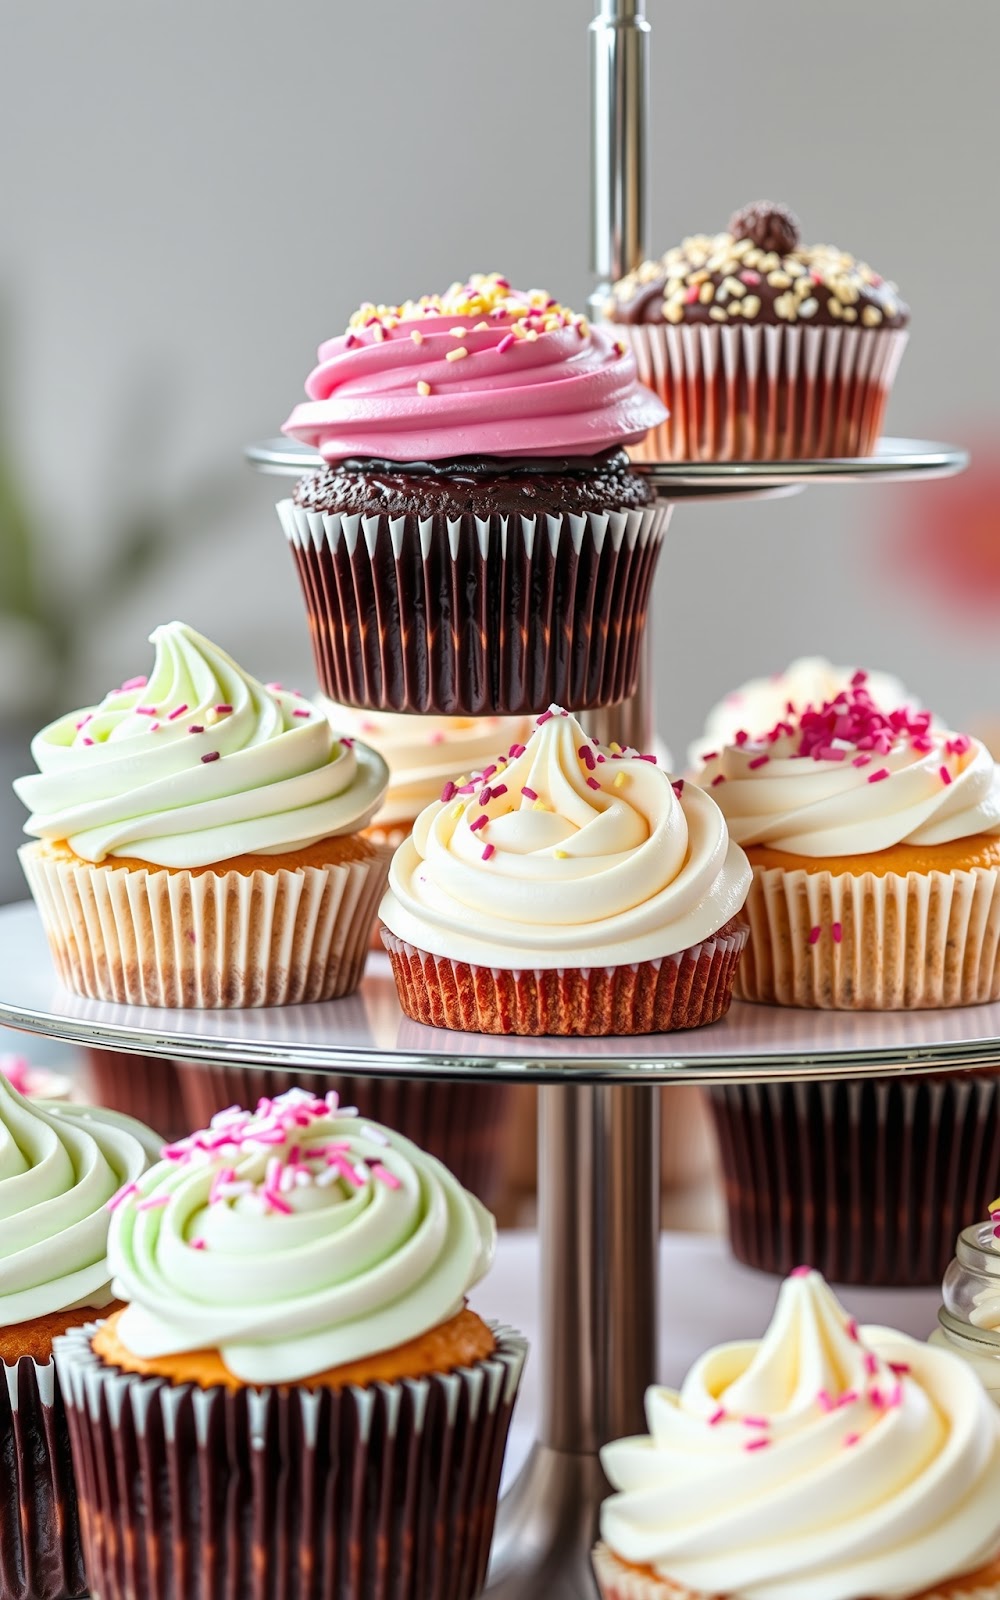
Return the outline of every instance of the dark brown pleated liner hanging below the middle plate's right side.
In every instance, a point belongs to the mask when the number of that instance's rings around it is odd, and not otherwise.
[[[938,1286],[1000,1189],[1000,1069],[709,1091],[733,1254],[834,1283]]]

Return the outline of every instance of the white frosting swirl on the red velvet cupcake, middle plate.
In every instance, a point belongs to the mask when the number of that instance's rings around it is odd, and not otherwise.
[[[552,707],[526,746],[446,784],[421,813],[379,915],[450,960],[621,966],[701,944],[749,885],[709,795],[672,784],[654,757],[602,747]]]

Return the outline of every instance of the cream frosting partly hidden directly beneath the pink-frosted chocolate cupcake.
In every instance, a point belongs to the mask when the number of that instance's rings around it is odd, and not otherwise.
[[[531,717],[408,717],[357,710],[315,696],[334,734],[365,739],[386,758],[389,789],[373,827],[410,827],[414,816],[461,771],[486,766],[501,746],[526,739]]]

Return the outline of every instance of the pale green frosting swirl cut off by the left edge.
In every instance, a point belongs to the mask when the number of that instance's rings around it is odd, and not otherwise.
[[[0,1075],[0,1328],[110,1302],[107,1202],[158,1149],[131,1117],[27,1101]]]

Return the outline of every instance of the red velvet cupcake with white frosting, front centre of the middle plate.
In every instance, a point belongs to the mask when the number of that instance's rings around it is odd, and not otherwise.
[[[747,885],[709,795],[552,707],[421,813],[379,915],[418,1022],[659,1034],[726,1013]]]

